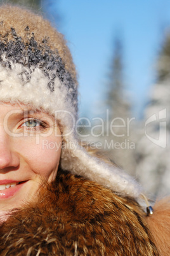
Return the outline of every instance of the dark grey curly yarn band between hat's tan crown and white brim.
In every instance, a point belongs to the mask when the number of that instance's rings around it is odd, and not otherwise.
[[[30,35],[29,26],[25,27]],[[16,34],[14,28],[11,28],[12,40],[8,40],[8,33],[5,36],[0,35],[0,62],[4,68],[12,69],[11,61],[22,64],[27,71],[18,74],[18,78],[22,80],[23,86],[30,81],[32,70],[30,67],[39,68],[45,76],[48,77],[47,90],[51,93],[55,90],[55,78],[59,78],[62,86],[68,88],[67,97],[72,100],[72,104],[77,109],[77,89],[75,82],[70,73],[65,69],[58,51],[52,51],[48,46],[48,39],[42,39],[41,45],[37,44],[34,38],[34,32],[31,33],[29,43],[24,44],[22,38]],[[2,59],[5,55],[6,60]],[[29,70],[29,72],[28,72]],[[35,85],[36,86],[36,85]]]

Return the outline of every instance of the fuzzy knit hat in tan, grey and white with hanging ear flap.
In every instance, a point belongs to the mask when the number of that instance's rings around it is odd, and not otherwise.
[[[59,120],[63,170],[124,196],[139,196],[133,178],[79,145],[77,78],[62,34],[41,16],[13,6],[0,8],[0,102],[29,104]]]

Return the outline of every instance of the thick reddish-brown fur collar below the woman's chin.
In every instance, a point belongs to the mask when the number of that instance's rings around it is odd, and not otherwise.
[[[159,255],[133,199],[61,170],[40,196],[1,225],[0,255]]]

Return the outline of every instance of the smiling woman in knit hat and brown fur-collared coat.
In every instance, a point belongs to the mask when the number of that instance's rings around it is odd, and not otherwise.
[[[0,255],[168,255],[169,204],[147,217],[136,181],[78,143],[63,36],[11,6],[0,31]]]

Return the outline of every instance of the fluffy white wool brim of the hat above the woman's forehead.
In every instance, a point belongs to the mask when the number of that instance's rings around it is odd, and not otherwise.
[[[6,60],[6,57],[1,57]],[[72,134],[76,111],[72,99],[67,97],[68,87],[56,76],[55,90],[51,93],[47,87],[48,77],[41,69],[25,68],[22,64],[13,64],[11,61],[10,65],[11,69],[4,68],[0,62],[0,102],[23,103],[26,106],[33,106],[36,110],[44,110],[56,120],[62,120],[63,136]],[[20,76],[24,73],[30,75],[27,82],[23,80],[23,76]]]

